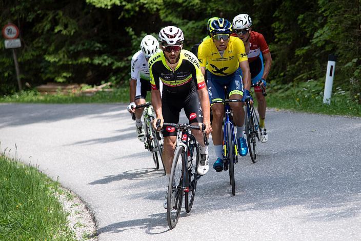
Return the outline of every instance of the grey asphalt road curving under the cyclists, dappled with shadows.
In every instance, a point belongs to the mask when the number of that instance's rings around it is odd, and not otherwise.
[[[268,111],[266,125],[258,162],[235,168],[236,195],[210,169],[169,230],[167,177],[125,105],[0,104],[2,150],[76,192],[99,240],[361,240],[361,119]]]

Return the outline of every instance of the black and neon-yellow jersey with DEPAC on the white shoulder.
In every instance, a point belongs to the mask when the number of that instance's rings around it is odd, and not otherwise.
[[[163,96],[185,97],[190,92],[206,87],[198,58],[185,49],[182,49],[179,55],[178,65],[174,71],[167,65],[163,52],[149,58],[150,84],[153,90],[158,90],[162,81]]]

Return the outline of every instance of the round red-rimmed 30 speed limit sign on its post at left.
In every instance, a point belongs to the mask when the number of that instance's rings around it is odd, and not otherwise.
[[[22,43],[19,38],[19,29],[14,24],[7,24],[3,28],[3,36],[6,38],[5,40],[5,48],[12,49],[12,56],[14,58],[15,70],[16,70],[16,79],[19,90],[22,90],[22,83],[20,81],[20,69],[19,64],[17,62],[17,57],[14,48],[22,47]]]

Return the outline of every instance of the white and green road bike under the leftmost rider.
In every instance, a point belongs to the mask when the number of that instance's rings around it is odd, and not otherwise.
[[[160,132],[156,132],[153,130],[153,120],[155,113],[153,111],[152,104],[146,102],[142,105],[137,105],[135,109],[144,108],[143,110],[143,122],[144,122],[144,132],[146,134],[146,142],[144,143],[144,147],[152,153],[153,161],[156,169],[159,169],[159,159],[163,165],[164,174],[166,174],[166,168],[163,163],[163,138]],[[132,113],[132,118],[135,120],[135,114]],[[156,132],[156,135],[155,135]]]

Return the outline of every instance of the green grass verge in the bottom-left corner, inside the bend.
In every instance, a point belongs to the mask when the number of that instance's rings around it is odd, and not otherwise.
[[[74,240],[58,184],[0,154],[0,240]]]

